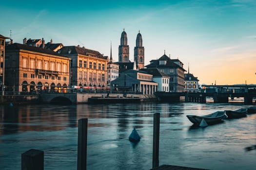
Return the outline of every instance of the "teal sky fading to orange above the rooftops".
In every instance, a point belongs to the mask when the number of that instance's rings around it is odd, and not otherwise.
[[[4,0],[0,11],[0,34],[13,42],[53,39],[108,56],[112,43],[118,61],[124,29],[133,62],[140,31],[145,66],[165,51],[199,84],[256,84],[256,0]]]

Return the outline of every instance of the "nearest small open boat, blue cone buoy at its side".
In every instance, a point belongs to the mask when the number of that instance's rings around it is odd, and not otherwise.
[[[206,127],[207,125],[215,124],[220,122],[222,119],[226,119],[227,115],[225,111],[217,111],[209,115],[187,115],[187,117],[192,123],[198,126]]]

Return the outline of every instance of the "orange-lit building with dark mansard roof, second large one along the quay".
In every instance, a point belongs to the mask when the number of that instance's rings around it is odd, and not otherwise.
[[[72,86],[85,89],[107,87],[107,57],[98,51],[79,46],[65,46],[57,52],[71,58]]]

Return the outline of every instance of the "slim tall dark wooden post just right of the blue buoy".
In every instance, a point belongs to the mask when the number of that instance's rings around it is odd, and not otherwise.
[[[154,114],[153,127],[153,163],[152,168],[159,167],[159,127],[160,127],[160,113]]]

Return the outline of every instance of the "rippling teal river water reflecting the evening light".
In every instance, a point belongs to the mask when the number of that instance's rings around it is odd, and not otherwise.
[[[88,118],[88,170],[152,168],[153,115],[160,113],[159,165],[254,170],[256,114],[194,128],[186,115],[249,107],[243,103],[125,103],[0,106],[0,170],[20,170],[21,153],[44,151],[45,170],[76,170],[78,120]],[[131,143],[136,127],[141,140]]]

